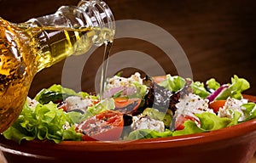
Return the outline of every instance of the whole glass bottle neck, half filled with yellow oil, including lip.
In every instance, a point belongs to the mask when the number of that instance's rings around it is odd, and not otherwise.
[[[100,0],[82,0],[78,6],[62,6],[55,14],[24,24],[32,29],[29,32],[35,42],[39,42],[38,71],[70,55],[86,53],[92,45],[99,47],[113,42],[115,32],[113,14]]]

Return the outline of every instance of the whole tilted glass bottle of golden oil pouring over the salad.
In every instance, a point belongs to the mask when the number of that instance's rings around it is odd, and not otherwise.
[[[20,24],[0,17],[0,132],[20,115],[38,71],[112,42],[114,30],[113,14],[100,0],[82,0]]]

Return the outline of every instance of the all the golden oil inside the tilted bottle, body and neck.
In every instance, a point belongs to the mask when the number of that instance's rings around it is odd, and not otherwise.
[[[96,27],[15,25],[0,18],[0,132],[20,115],[33,76],[39,70],[72,54],[86,53],[96,42],[112,41],[113,33]]]

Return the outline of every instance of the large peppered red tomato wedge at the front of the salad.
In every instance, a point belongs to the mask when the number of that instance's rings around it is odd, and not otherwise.
[[[119,111],[106,110],[83,121],[77,126],[77,132],[84,134],[84,141],[118,140],[124,126],[123,114]]]

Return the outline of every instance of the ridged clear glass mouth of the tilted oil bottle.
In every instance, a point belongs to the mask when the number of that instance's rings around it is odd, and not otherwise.
[[[91,26],[115,31],[113,14],[107,3],[102,0],[81,0],[78,7],[82,8],[84,13],[86,13],[84,17],[89,17]]]

